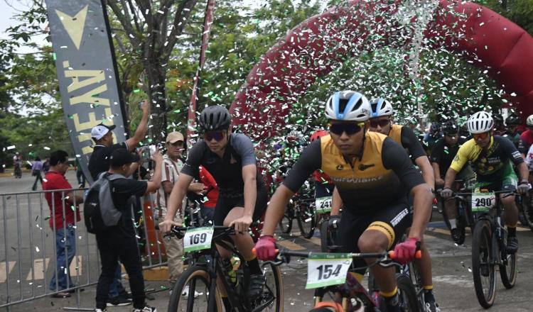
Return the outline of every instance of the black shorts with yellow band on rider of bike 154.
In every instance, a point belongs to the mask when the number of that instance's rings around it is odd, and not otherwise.
[[[354,209],[344,209],[335,245],[342,246],[340,252],[360,252],[357,242],[365,230],[379,230],[389,238],[389,249],[402,238],[413,222],[406,199],[397,201],[375,212],[357,214]],[[364,267],[365,260],[355,260],[355,267]],[[365,270],[357,270],[364,274]]]

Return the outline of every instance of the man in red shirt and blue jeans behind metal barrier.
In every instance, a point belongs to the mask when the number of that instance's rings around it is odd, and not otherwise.
[[[74,285],[70,279],[70,262],[76,253],[75,224],[80,221],[78,204],[83,201],[82,192],[68,191],[72,189],[65,178],[68,170],[68,153],[56,150],[50,155],[50,170],[46,172],[43,190],[67,190],[45,193],[45,199],[50,207],[50,228],[55,234],[55,272],[50,281],[50,290],[60,291],[54,294],[57,298],[70,297],[70,292],[64,291]],[[65,273],[67,272],[67,273]],[[57,279],[56,279],[57,274]]]

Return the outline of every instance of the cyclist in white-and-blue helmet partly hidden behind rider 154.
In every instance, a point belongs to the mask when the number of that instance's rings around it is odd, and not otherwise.
[[[420,141],[416,138],[413,130],[409,127],[404,127],[395,124],[392,121],[394,114],[394,108],[392,104],[386,99],[378,98],[370,101],[370,107],[372,112],[370,113],[370,131],[375,131],[383,135],[387,135],[392,138],[394,142],[402,145],[407,151],[407,154],[411,156],[411,160],[420,168],[424,182],[431,186],[431,189],[435,189],[435,177],[429,159],[422,147]],[[440,125],[439,125],[440,127]],[[337,196],[334,198],[336,199]],[[335,205],[336,206],[336,205]],[[415,264],[419,268],[422,277],[422,283],[424,284],[424,297],[426,299],[426,309],[429,312],[438,312],[438,304],[435,302],[435,296],[433,294],[433,277],[431,274],[431,257],[427,250],[426,244],[421,245],[422,258],[416,260]]]

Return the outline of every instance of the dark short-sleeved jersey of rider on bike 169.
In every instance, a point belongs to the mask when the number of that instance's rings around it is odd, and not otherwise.
[[[255,165],[257,162],[252,141],[244,134],[232,133],[226,145],[224,156],[218,157],[211,152],[204,140],[199,140],[188,152],[187,160],[181,172],[191,177],[198,176],[200,165],[210,172],[222,196],[239,196],[244,192],[242,167]],[[257,171],[257,189],[264,189],[264,182]]]

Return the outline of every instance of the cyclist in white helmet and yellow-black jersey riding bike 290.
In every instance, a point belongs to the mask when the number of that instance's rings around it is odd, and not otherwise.
[[[489,191],[515,191],[526,194],[529,191],[529,172],[524,159],[512,142],[500,135],[492,135],[494,121],[490,113],[478,111],[468,118],[468,131],[473,138],[463,144],[456,157],[453,158],[450,168],[446,172],[444,188],[441,196],[447,199],[452,196],[451,186],[456,179],[457,172],[470,161],[478,179],[476,188]],[[520,182],[517,186],[517,175],[512,168],[512,163],[517,166]],[[515,196],[500,198],[505,207],[505,224],[507,225],[507,252],[514,253],[518,250],[516,227],[518,223],[518,209]]]

